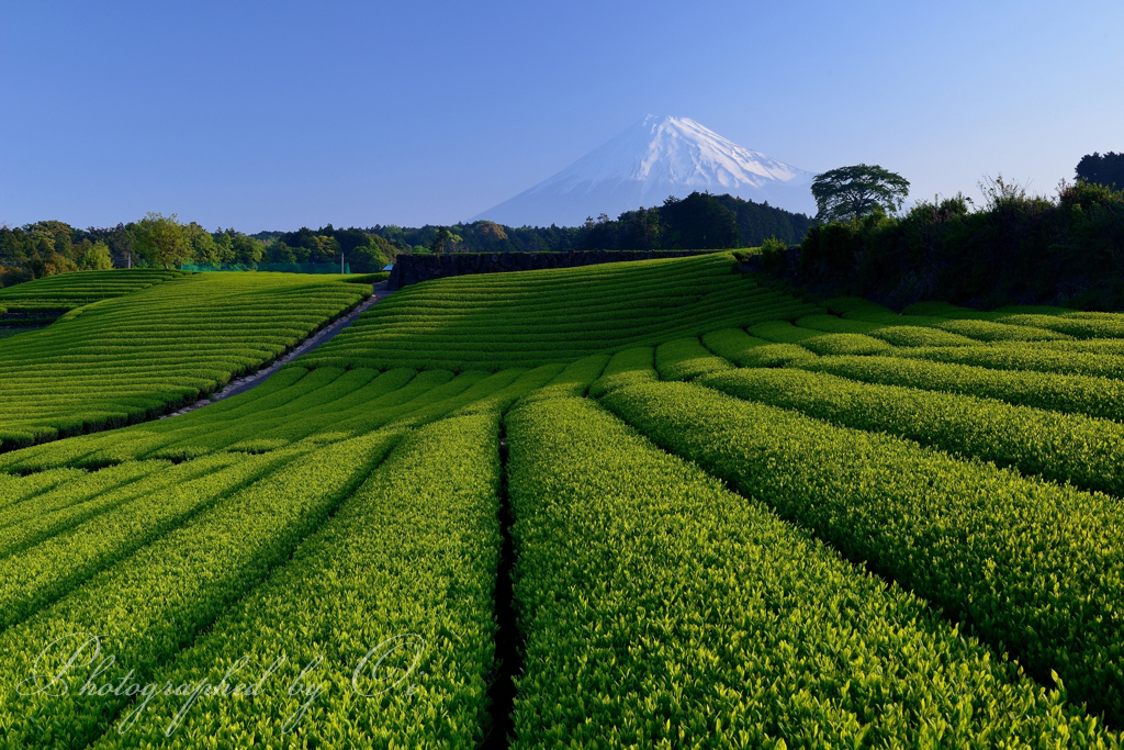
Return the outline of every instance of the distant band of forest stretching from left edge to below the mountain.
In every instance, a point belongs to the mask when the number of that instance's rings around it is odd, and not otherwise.
[[[799,242],[813,220],[765,204],[695,192],[662,206],[590,217],[578,227],[507,227],[493,222],[417,228],[393,224],[245,234],[209,232],[175,215],[149,214],[115,227],[80,229],[64,222],[0,226],[0,286],[55,273],[121,266],[176,268],[338,264],[382,269],[400,254],[522,253],[586,250],[720,250],[760,245],[767,237]]]

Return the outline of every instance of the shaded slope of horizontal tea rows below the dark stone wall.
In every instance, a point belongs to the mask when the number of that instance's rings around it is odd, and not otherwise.
[[[821,310],[732,273],[734,265],[718,253],[424,282],[381,301],[306,361],[537,367]]]

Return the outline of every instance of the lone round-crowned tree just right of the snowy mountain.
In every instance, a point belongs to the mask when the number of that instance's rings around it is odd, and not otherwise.
[[[855,164],[817,174],[812,195],[818,222],[851,222],[877,210],[900,210],[909,195],[909,181],[878,164]]]

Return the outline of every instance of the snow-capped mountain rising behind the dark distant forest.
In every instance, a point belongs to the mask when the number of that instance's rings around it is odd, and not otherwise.
[[[815,214],[812,180],[812,172],[740,146],[695,120],[649,115],[554,177],[472,220],[575,226],[589,216],[616,218],[696,190]]]

